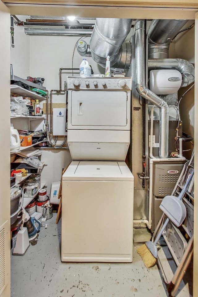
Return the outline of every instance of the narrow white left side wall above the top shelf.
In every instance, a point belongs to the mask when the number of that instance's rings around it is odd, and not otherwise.
[[[14,25],[14,44],[15,47],[11,47],[14,75],[26,79],[30,74],[30,37],[24,33],[23,26]]]

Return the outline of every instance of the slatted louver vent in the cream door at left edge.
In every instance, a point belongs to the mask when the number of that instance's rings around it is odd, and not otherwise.
[[[0,231],[0,295],[5,287],[5,229]]]

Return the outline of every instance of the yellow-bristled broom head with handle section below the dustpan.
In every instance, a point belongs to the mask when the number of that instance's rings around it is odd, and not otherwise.
[[[160,239],[168,222],[169,222],[169,218],[166,219],[164,225],[162,226],[162,228],[154,242],[147,241],[141,247],[137,248],[137,252],[142,257],[142,260],[143,260],[146,268],[150,268],[153,265],[155,265],[155,263],[156,263],[156,260],[157,260],[157,246],[156,246],[156,244],[157,244],[158,240]]]

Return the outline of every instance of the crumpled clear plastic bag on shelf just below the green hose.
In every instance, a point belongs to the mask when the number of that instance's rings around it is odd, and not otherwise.
[[[10,98],[10,115],[11,116],[28,116],[29,110],[25,104],[23,97]]]

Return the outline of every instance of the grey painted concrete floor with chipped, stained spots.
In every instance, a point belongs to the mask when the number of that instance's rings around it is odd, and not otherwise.
[[[11,297],[168,296],[157,265],[146,269],[136,248],[132,263],[62,263],[55,221],[56,213],[24,256],[11,256]],[[182,282],[176,296],[191,296],[188,285]]]

